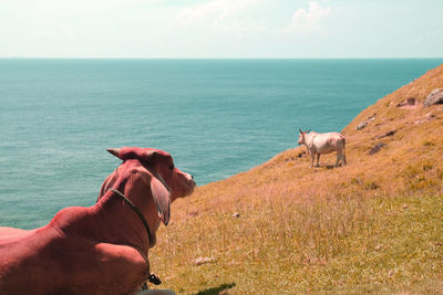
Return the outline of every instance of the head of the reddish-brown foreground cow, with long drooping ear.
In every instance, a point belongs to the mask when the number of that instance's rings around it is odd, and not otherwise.
[[[166,151],[138,147],[106,150],[123,161],[140,161],[142,167],[138,171],[146,176],[145,182],[148,182],[146,185],[151,188],[158,215],[164,224],[169,221],[169,204],[177,198],[189,196],[194,191],[196,186],[194,177],[176,168],[171,154]],[[102,189],[102,193],[104,192],[105,189]]]

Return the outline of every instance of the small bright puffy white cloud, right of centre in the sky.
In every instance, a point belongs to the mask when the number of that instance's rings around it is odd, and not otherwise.
[[[291,19],[289,27],[285,28],[285,32],[308,33],[318,30],[321,21],[331,12],[330,7],[323,7],[318,1],[309,2],[309,9],[298,9]]]

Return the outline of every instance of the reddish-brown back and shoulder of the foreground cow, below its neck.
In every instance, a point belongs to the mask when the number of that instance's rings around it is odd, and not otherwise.
[[[50,224],[35,230],[0,228],[0,295],[128,294],[137,289],[148,273],[137,250],[66,234],[54,224],[68,215],[70,226],[75,226],[79,221],[71,217],[78,210],[64,209]],[[85,211],[81,211],[84,222]]]

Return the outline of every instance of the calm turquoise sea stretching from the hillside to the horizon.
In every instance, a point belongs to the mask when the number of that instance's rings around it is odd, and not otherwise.
[[[109,147],[169,151],[198,185],[341,130],[440,60],[0,60],[0,225],[94,203]]]

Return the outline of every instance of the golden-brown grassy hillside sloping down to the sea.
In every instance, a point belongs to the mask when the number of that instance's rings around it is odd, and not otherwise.
[[[357,116],[346,167],[299,147],[178,200],[150,253],[162,287],[443,294],[443,105],[423,106],[439,87],[443,65]]]

